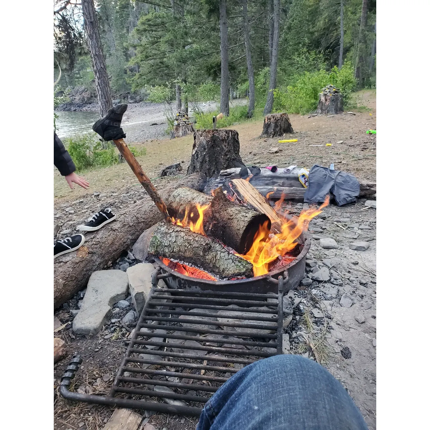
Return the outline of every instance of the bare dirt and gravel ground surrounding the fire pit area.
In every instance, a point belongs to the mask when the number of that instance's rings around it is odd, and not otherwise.
[[[334,117],[310,117],[290,115],[295,131],[292,138],[298,142],[279,144],[278,139],[260,139],[262,121],[252,120],[231,128],[239,132],[241,155],[249,165],[289,166],[292,164],[310,168],[314,163],[322,166],[335,164],[335,169],[353,173],[359,179],[376,179],[376,137],[366,135],[365,131],[376,128],[375,92],[361,92],[357,101],[368,106],[369,111],[354,112]],[[338,143],[343,141],[342,143]],[[131,143],[131,142],[129,142]],[[190,161],[192,135],[175,140],[152,140],[139,143],[147,148],[147,155],[139,157],[145,172],[154,179],[156,186],[163,186],[166,179],[158,178],[162,167],[183,161],[184,169]],[[326,147],[326,143],[332,143]],[[310,145],[324,146],[310,146]],[[136,145],[138,146],[138,145]],[[282,151],[269,154],[272,147]],[[60,230],[71,229],[109,204],[114,209],[126,207],[140,197],[141,187],[126,164],[111,166],[83,174],[90,182],[89,190],[76,187],[67,188],[67,184],[54,172],[54,224]],[[94,194],[95,193],[95,194]],[[98,194],[99,193],[99,194]],[[373,200],[374,198],[371,198]],[[308,258],[317,262],[319,267],[329,266],[334,279],[337,279],[338,292],[333,297],[324,296],[322,283],[312,284],[298,290],[302,303],[295,308],[293,319],[298,324],[290,324],[292,353],[315,357],[315,351],[297,334],[299,326],[312,339],[324,336],[326,348],[316,352],[322,357],[322,364],[347,388],[360,408],[369,429],[376,428],[376,211],[365,209],[365,199],[356,204],[337,207],[330,205],[324,210],[325,216],[319,216],[310,224],[310,231],[316,228]],[[65,207],[71,206],[75,213],[67,213]],[[293,205],[290,212],[300,212],[301,205]],[[343,221],[339,221],[342,219]],[[348,221],[345,221],[348,220]],[[355,226],[359,224],[359,226]],[[322,232],[321,232],[322,231]],[[58,234],[57,237],[71,233]],[[332,237],[339,245],[338,249],[327,250],[319,246],[319,234]],[[351,239],[351,235],[359,239]],[[365,251],[353,251],[349,243],[353,240],[369,241]],[[308,270],[311,270],[308,267]],[[329,286],[332,284],[328,284]],[[342,295],[352,298],[351,307],[343,307],[339,301]],[[68,308],[60,308],[55,316],[67,325],[55,333],[66,341],[68,356],[54,366],[54,428],[102,429],[114,408],[85,403],[68,402],[59,396],[59,380],[73,353],[83,356],[72,389],[79,387],[94,394],[107,393],[117,372],[122,356],[126,351],[129,333],[126,330],[109,336],[104,329],[98,336],[77,336],[71,329],[70,309],[78,309],[78,294],[68,302]],[[326,306],[326,318],[314,318],[311,310]],[[349,353],[348,353],[349,351]],[[104,378],[103,378],[104,377]],[[136,411],[145,417],[144,411]],[[185,430],[194,429],[197,418],[176,415],[146,413],[147,422],[157,429]]]

